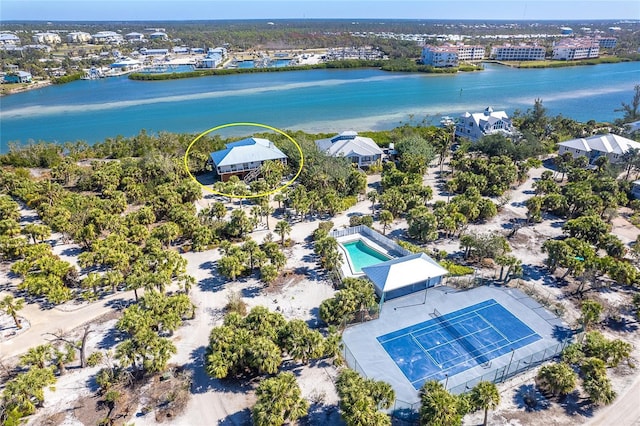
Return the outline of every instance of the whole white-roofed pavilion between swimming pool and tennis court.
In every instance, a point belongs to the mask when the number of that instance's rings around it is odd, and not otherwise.
[[[362,268],[382,301],[406,296],[442,281],[449,271],[424,253],[389,260]]]

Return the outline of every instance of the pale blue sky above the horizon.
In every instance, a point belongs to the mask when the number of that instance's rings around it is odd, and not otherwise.
[[[2,0],[8,20],[640,20],[638,0]]]

